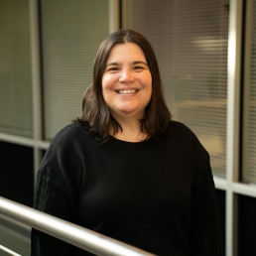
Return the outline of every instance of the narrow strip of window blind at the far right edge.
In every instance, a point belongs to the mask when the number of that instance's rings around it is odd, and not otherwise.
[[[246,12],[242,181],[256,184],[256,4]]]

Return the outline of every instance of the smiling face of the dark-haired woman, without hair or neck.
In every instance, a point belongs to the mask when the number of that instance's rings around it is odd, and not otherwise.
[[[114,118],[143,118],[152,95],[152,76],[140,47],[133,43],[113,47],[102,76],[102,93]]]

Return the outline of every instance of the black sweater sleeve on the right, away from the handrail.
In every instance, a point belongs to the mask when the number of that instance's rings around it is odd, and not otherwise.
[[[191,255],[222,255],[218,206],[209,156],[199,143],[194,155],[191,216]]]

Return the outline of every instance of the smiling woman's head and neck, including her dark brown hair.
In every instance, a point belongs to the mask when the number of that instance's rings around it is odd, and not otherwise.
[[[105,143],[110,136],[130,142],[146,140],[168,129],[170,120],[149,42],[131,30],[109,35],[98,49],[82,116],[74,122]]]

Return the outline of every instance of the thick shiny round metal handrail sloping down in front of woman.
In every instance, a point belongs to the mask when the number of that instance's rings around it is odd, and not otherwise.
[[[55,236],[76,247],[102,256],[153,256],[58,217],[0,196],[0,214]]]

